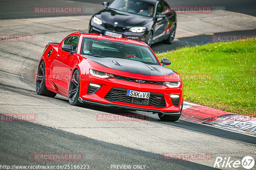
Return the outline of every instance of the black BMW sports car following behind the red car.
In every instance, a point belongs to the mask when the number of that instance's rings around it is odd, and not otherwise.
[[[103,2],[104,10],[94,14],[89,33],[146,42],[164,40],[172,44],[176,13],[163,0],[115,0]]]

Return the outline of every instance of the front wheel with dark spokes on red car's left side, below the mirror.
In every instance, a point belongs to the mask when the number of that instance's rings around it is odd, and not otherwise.
[[[72,74],[69,89],[68,89],[68,102],[73,106],[81,106],[82,103],[78,101],[80,92],[80,73],[78,69]]]

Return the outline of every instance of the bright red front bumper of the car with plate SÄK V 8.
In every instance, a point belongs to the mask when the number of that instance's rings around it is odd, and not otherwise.
[[[141,79],[141,78],[140,78]],[[94,94],[88,95],[87,90],[89,83],[95,83],[102,85],[101,88],[96,91]],[[105,100],[105,96],[112,88],[122,88],[130,89],[136,91],[150,92],[150,93],[159,93],[164,95],[165,107],[158,108],[155,106],[149,105],[140,105],[133,103],[124,103],[124,102],[114,102]],[[178,107],[174,106],[170,97],[170,94],[180,95]],[[183,103],[183,83],[181,81],[180,87],[178,88],[168,88],[164,85],[154,85],[154,84],[143,84],[132,81],[124,81],[120,79],[110,78],[97,78],[93,77],[90,74],[86,75],[85,80],[80,82],[80,98],[79,101],[82,103],[90,104],[99,104],[103,106],[119,107],[131,110],[142,110],[148,112],[162,113],[162,114],[172,114],[180,115],[181,106]]]

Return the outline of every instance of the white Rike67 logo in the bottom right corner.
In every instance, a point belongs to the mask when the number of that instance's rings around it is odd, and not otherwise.
[[[228,158],[222,158],[222,157],[217,157],[216,161],[214,163],[214,168],[238,168],[241,165],[245,169],[251,169],[254,166],[254,159],[251,156],[245,156],[242,161],[240,160],[231,160],[230,157]]]

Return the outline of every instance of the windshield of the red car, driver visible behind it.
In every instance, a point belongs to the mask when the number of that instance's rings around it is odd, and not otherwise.
[[[83,38],[80,54],[136,60],[146,64],[159,65],[155,55],[147,46],[103,39]]]

